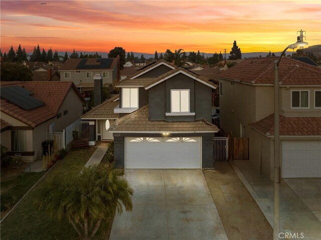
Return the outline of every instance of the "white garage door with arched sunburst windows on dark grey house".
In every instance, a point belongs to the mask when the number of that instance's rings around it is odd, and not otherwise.
[[[126,137],[126,168],[201,168],[201,137]]]

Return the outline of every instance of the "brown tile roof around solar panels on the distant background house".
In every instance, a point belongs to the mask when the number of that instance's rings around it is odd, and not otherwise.
[[[79,65],[80,61],[83,60],[84,58],[69,58],[64,62],[64,64],[61,66],[60,71],[80,71],[80,70],[96,70],[96,71],[101,71],[102,69],[104,70],[113,70],[115,65],[117,64],[117,58],[110,58],[112,59],[112,63],[109,68],[101,68],[101,69],[77,69],[77,66]],[[97,62],[98,58],[87,58],[86,64],[85,65],[100,65],[100,62]]]

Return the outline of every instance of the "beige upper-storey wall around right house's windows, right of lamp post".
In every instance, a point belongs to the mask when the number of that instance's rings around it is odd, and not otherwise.
[[[291,109],[291,90],[309,91],[308,109]],[[321,109],[314,108],[314,90],[321,91],[321,87],[281,87],[281,114],[288,117],[320,117]]]

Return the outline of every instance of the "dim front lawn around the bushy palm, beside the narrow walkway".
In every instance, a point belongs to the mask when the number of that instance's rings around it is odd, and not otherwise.
[[[45,211],[36,209],[33,203],[36,200],[37,192],[52,181],[55,176],[62,177],[72,172],[79,172],[95,150],[94,147],[72,150],[64,159],[60,160],[43,178],[43,181],[35,186],[2,222],[1,239],[78,240],[77,232],[67,219],[64,218],[61,221],[52,219]],[[112,220],[113,217],[110,217],[101,224],[95,239],[108,239]]]

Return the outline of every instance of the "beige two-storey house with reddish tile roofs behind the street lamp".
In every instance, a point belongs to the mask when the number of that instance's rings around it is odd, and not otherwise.
[[[253,168],[273,178],[274,61],[253,58],[220,73],[220,123],[249,138]],[[281,176],[321,177],[321,69],[282,58],[280,79]]]

